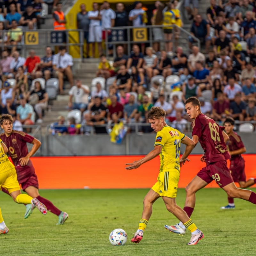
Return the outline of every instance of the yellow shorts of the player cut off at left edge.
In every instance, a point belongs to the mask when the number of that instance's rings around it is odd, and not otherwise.
[[[0,172],[0,190],[2,190],[1,187],[7,189],[9,193],[20,190],[15,168],[6,172]]]

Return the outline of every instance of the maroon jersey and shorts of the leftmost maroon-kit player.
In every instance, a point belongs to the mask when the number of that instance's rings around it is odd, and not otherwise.
[[[9,150],[8,154],[12,158],[12,162],[15,165],[17,172],[17,179],[21,184],[29,176],[35,173],[31,160],[29,160],[28,164],[25,166],[20,165],[20,158],[28,155],[27,142],[31,143],[34,140],[34,137],[25,132],[12,130],[10,136],[6,137],[6,135],[2,133],[0,134],[0,138]]]

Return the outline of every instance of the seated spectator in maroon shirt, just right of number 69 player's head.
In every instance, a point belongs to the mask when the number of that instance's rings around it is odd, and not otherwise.
[[[224,121],[229,115],[229,101],[225,99],[223,92],[217,93],[217,100],[214,102],[212,116],[215,121]]]

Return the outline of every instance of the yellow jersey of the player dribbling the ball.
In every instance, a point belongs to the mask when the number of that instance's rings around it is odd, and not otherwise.
[[[156,133],[155,146],[162,146],[160,154],[160,172],[167,172],[174,168],[180,172],[180,142],[186,137],[185,134],[166,125]]]

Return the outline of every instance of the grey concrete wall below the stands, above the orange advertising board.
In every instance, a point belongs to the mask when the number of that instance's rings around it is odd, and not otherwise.
[[[191,133],[186,133],[191,138]],[[256,153],[256,133],[239,133],[247,149],[246,153]],[[110,142],[108,134],[102,135],[47,135],[42,141],[44,156],[104,156],[104,155],[146,155],[154,147],[156,134],[127,134],[119,145]],[[183,153],[185,145],[181,144]],[[200,144],[193,154],[202,154]]]

